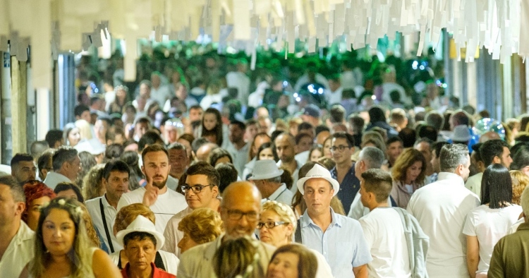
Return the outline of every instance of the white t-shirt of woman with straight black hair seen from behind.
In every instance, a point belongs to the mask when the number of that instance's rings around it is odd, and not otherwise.
[[[489,271],[492,251],[499,239],[507,235],[509,228],[518,221],[522,207],[511,205],[500,209],[491,209],[488,205],[480,205],[468,212],[463,234],[478,236],[480,243],[480,262],[478,272]]]

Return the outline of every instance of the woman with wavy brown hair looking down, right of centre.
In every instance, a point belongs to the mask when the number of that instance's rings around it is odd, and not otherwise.
[[[398,207],[406,209],[411,195],[425,185],[425,171],[426,160],[422,152],[408,148],[399,155],[391,168],[393,177],[391,198]]]

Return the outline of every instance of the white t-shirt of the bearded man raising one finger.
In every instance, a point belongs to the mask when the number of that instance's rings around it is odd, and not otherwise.
[[[145,188],[140,187],[134,191],[121,195],[121,199],[119,199],[118,202],[118,211],[121,207],[125,207],[126,205],[142,203],[145,191]],[[186,198],[176,191],[171,191],[168,188],[166,193],[158,195],[156,203],[150,206],[150,209],[154,212],[154,216],[156,217],[156,230],[163,234],[169,219],[186,207],[188,207]]]

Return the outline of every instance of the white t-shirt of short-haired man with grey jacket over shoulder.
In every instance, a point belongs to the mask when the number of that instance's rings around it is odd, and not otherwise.
[[[367,264],[369,277],[411,277],[408,243],[399,213],[377,207],[358,220],[373,260]]]

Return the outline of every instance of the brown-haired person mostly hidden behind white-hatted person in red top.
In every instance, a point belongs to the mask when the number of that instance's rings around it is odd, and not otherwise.
[[[116,220],[114,221],[114,235],[116,235],[116,238],[118,232],[127,229],[128,225],[130,225],[130,223],[132,223],[136,218],[138,218],[139,215],[142,215],[143,217],[149,219],[150,222],[155,223],[154,213],[146,205],[137,203],[128,205],[126,207],[121,207],[121,210],[119,210],[116,214]],[[114,263],[118,266],[120,270],[123,269],[129,261],[128,255],[124,250],[110,254],[110,258],[114,261]],[[176,270],[180,260],[178,260],[178,258],[176,258],[176,255],[174,255],[173,253],[157,249],[154,258],[152,258],[150,262],[154,262],[154,265],[157,268],[160,268],[162,270],[165,270],[166,272],[176,275]]]

